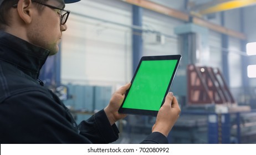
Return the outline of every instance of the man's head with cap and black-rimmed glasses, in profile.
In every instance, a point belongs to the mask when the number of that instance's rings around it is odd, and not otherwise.
[[[58,52],[69,11],[65,3],[80,0],[0,0],[0,30]]]

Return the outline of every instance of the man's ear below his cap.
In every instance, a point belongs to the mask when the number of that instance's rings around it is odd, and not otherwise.
[[[19,0],[17,5],[18,15],[25,24],[29,24],[32,21],[32,1],[31,0]]]

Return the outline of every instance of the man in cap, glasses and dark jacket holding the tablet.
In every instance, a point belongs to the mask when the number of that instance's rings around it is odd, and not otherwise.
[[[76,125],[63,102],[38,80],[48,55],[58,52],[69,11],[79,0],[0,0],[0,142],[110,143],[130,84],[111,97],[104,110]],[[152,133],[142,143],[167,143],[180,107],[170,92],[158,112]]]

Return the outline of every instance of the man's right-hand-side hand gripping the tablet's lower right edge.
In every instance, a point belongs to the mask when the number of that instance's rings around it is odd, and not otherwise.
[[[157,113],[156,123],[152,127],[152,132],[160,132],[166,137],[171,131],[173,125],[180,116],[180,106],[172,92],[169,92],[165,97],[165,103]]]

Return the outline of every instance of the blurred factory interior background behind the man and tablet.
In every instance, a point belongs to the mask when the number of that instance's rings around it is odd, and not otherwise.
[[[82,0],[65,9],[68,29],[40,79],[78,123],[131,81],[141,56],[181,54],[169,143],[256,143],[255,0]],[[114,143],[140,143],[155,120],[118,121]]]

